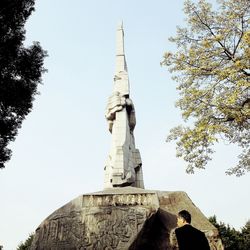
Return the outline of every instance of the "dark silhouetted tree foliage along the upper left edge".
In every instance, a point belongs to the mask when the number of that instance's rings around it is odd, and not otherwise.
[[[25,22],[34,0],[0,1],[0,168],[11,157],[7,148],[32,109],[46,56],[38,42],[25,48]]]

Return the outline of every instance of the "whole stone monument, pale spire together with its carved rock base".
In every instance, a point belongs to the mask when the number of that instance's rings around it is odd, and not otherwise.
[[[178,249],[174,229],[182,209],[205,232],[211,250],[223,250],[218,230],[185,192],[144,189],[123,36],[119,25],[114,89],[106,109],[111,149],[104,190],[81,195],[48,216],[36,229],[31,250]]]

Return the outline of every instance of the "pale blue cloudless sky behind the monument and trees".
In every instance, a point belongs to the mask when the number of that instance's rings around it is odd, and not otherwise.
[[[185,173],[175,144],[165,143],[182,122],[176,84],[160,66],[168,37],[183,25],[183,0],[37,0],[27,44],[40,41],[48,69],[33,111],[0,171],[0,245],[16,249],[53,211],[77,196],[103,189],[111,136],[104,118],[112,92],[115,32],[123,20],[125,52],[137,125],[136,146],[147,189],[185,191],[206,216],[237,229],[250,219],[249,174],[225,170],[237,148],[221,144],[206,170]]]

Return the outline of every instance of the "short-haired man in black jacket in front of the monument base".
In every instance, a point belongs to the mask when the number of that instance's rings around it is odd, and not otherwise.
[[[191,214],[182,210],[177,216],[175,234],[179,250],[210,250],[208,240],[203,232],[192,227]]]

